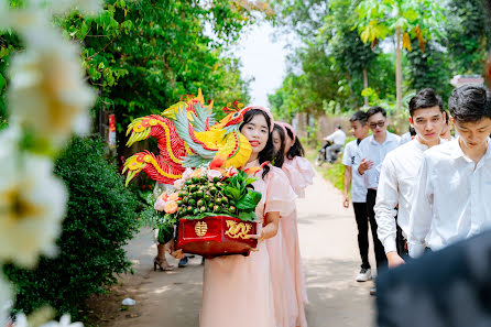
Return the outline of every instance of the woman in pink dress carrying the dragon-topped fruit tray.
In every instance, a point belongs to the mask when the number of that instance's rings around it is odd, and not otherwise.
[[[253,107],[244,115],[240,131],[252,145],[246,168],[273,159],[272,129],[273,119],[266,109]],[[277,326],[265,240],[276,236],[280,217],[294,210],[295,194],[277,167],[268,164],[257,177],[253,186],[262,198],[255,214],[263,226],[257,236],[257,251],[249,257],[227,255],[205,261],[200,327]]]

